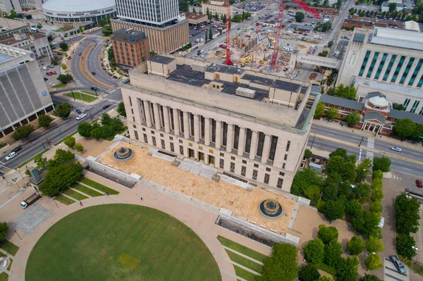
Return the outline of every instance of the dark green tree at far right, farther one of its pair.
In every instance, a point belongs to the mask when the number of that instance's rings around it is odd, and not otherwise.
[[[395,224],[398,233],[416,233],[419,227],[420,202],[415,197],[403,193],[395,202]]]

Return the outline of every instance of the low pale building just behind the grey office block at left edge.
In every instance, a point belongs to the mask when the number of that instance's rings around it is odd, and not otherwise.
[[[53,58],[49,40],[44,35],[39,35],[37,33],[14,33],[13,37],[1,39],[0,44],[32,51],[32,53],[35,54],[35,58],[40,58],[42,56]]]

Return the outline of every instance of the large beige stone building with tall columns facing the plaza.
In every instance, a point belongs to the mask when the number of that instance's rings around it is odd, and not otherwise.
[[[251,70],[154,56],[122,83],[130,138],[289,192],[320,89]]]

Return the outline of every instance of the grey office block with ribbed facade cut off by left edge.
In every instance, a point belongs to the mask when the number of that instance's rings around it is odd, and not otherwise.
[[[0,101],[3,136],[54,109],[32,52],[0,44]]]

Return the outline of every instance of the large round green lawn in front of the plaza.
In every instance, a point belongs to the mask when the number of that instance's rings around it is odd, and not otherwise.
[[[48,265],[48,266],[46,266]],[[25,280],[221,280],[195,232],[153,208],[82,208],[51,226],[27,260]]]

